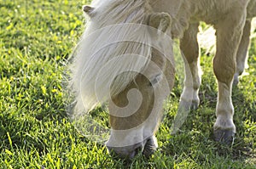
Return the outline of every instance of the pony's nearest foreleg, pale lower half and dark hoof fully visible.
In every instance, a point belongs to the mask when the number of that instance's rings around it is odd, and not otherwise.
[[[236,11],[236,10],[234,10]],[[236,72],[236,52],[241,40],[245,14],[230,14],[215,25],[217,51],[213,59],[214,74],[218,79],[217,120],[213,126],[216,141],[231,144],[236,133],[231,99],[232,81]],[[231,20],[232,19],[232,20]]]

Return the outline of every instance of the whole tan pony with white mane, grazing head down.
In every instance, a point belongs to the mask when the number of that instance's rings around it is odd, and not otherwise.
[[[232,81],[234,76],[237,81],[243,70],[255,2],[95,0],[92,7],[84,6],[90,23],[73,54],[73,117],[79,119],[108,101],[109,151],[124,158],[134,157],[139,150],[151,155],[157,148],[154,133],[162,104],[174,81],[172,38],[180,39],[186,63],[179,110],[189,111],[199,104],[196,34],[199,22],[205,21],[214,26],[217,36],[213,69],[218,80],[218,104],[213,132],[217,141],[230,143],[236,132]]]

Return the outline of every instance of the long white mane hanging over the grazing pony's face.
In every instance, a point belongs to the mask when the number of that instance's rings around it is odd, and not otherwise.
[[[151,59],[151,40],[139,26],[151,10],[147,1],[96,0],[92,5],[90,22],[73,53],[74,115],[120,93]]]

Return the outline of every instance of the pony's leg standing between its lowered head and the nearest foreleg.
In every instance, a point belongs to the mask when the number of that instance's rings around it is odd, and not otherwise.
[[[185,65],[185,82],[180,106],[196,109],[199,105],[198,91],[201,85],[199,46],[197,42],[199,23],[189,25],[180,40]]]

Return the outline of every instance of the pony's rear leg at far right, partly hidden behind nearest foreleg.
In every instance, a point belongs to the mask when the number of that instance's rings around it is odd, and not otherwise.
[[[241,42],[236,54],[236,74],[234,76],[233,85],[237,85],[239,82],[238,76],[242,74],[245,69],[246,59],[247,59],[247,50],[250,43],[250,31],[251,31],[251,21],[247,20],[241,37]]]

